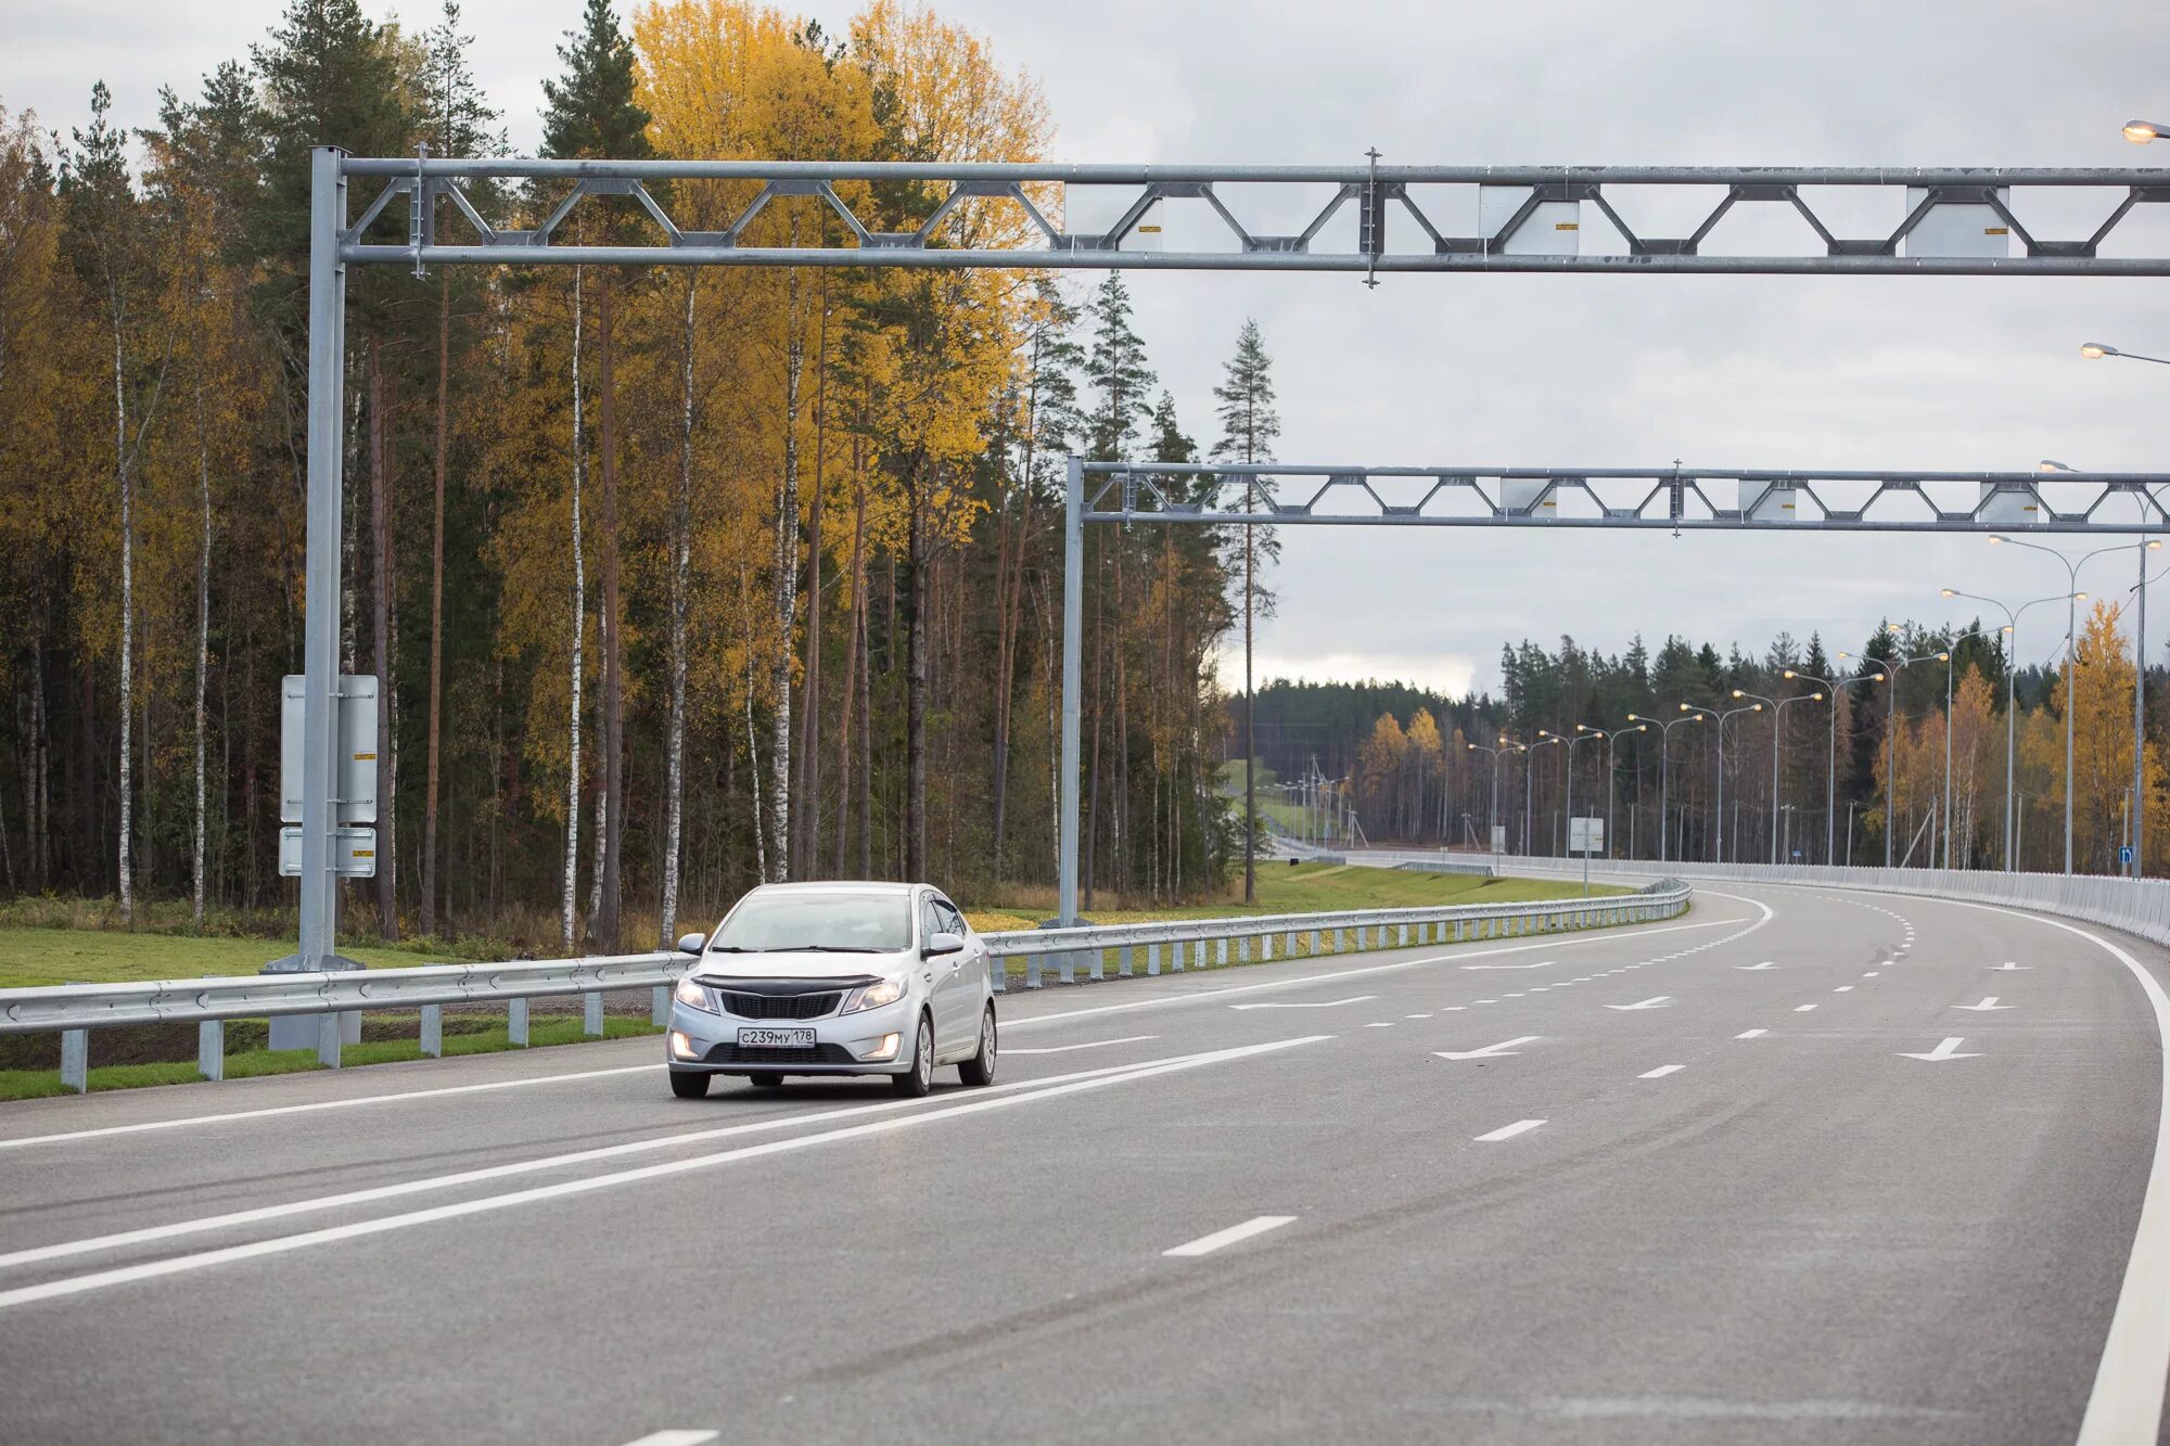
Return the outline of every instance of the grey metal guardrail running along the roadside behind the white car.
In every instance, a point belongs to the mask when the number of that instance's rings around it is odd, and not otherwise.
[[[1105,979],[1133,975],[1137,951],[1146,975],[1230,962],[1330,957],[1365,949],[1406,949],[1517,934],[1549,934],[1621,923],[1673,918],[1688,908],[1688,886],[1677,879],[1632,895],[1597,899],[1539,899],[1408,910],[1345,910],[1335,914],[1259,914],[1250,918],[1170,918],[1154,923],[1085,925],[1074,929],[1009,929],[981,934],[998,960],[994,986],[1007,990],[1011,960],[1024,960],[1024,988],[1039,988],[1044,964],[1055,960],[1063,984],[1078,971]],[[1350,942],[1354,936],[1354,947]],[[1213,957],[1209,960],[1209,951]],[[692,966],[684,953],[631,953],[584,960],[519,960],[506,964],[423,964],[310,975],[228,975],[206,979],[150,979],[132,984],[56,984],[0,990],[0,1036],[61,1033],[61,1081],[78,1094],[89,1088],[89,1031],[124,1025],[197,1027],[197,1073],[224,1079],[226,1020],[317,1016],[317,1060],[341,1062],[345,1020],[362,1010],[419,1010],[421,1051],[443,1055],[445,1005],[506,1005],[508,1036],[527,1042],[527,1001],[584,997],[582,1027],[603,1033],[603,990],[651,990],[651,1020],[662,1025],[671,988]]]

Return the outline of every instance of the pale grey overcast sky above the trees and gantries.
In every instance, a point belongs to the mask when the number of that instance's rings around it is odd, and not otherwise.
[[[100,76],[124,122],[148,122],[158,85],[193,91],[280,9],[0,4],[0,102],[61,130]],[[831,30],[851,9],[803,7]],[[2118,135],[2129,115],[2170,119],[2155,0],[937,9],[1039,78],[1061,161],[1345,163],[1376,145],[1410,165],[2170,167],[2170,143]],[[579,0],[464,13],[529,150]],[[2170,206],[2118,234],[2161,254]],[[1131,284],[1150,360],[1202,443],[1217,367],[1243,317],[1259,319],[1289,460],[2025,469],[2048,456],[2170,471],[2170,367],[2079,356],[2085,339],[2170,354],[2170,280],[1393,276],[1365,291],[1352,276],[1135,271]],[[2127,573],[2096,562],[2081,586],[2122,593]],[[1884,614],[1953,617],[1940,584],[2038,597],[2064,573],[1977,538],[1291,528],[1274,582],[1261,675],[1460,690],[1495,684],[1502,640],[1523,636],[1617,651],[1680,632],[1762,651],[1779,630],[1821,630],[1851,647]],[[2020,654],[2055,645],[2038,625]]]

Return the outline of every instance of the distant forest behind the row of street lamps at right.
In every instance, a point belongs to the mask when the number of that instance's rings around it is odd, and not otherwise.
[[[1317,769],[1369,842],[1482,849],[1497,823],[1510,851],[1560,853],[1573,788],[1575,814],[1610,816],[1617,858],[1881,864],[1888,842],[1894,864],[2003,868],[2009,797],[2014,862],[2062,871],[2070,697],[2072,866],[2116,873],[2135,684],[2120,623],[2096,601],[2070,667],[2016,673],[1979,619],[1886,621],[1844,651],[1782,634],[1760,658],[1677,636],[1610,658],[1526,640],[1502,647],[1497,697],[1276,680],[1259,688],[1254,730],[1263,766],[1280,779]],[[2142,862],[2170,875],[2163,684],[2148,669]]]

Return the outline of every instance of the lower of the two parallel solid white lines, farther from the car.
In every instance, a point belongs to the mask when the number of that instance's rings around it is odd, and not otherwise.
[[[328,1229],[304,1231],[299,1235],[273,1235],[271,1240],[254,1240],[250,1244],[224,1246],[217,1251],[200,1251],[195,1255],[176,1255],[169,1259],[154,1259],[141,1266],[119,1266],[113,1270],[93,1270],[91,1274],[63,1277],[56,1281],[43,1281],[39,1285],[22,1285],[17,1290],[0,1290],[0,1309],[13,1309],[17,1305],[30,1305],[35,1301],[52,1301],[59,1296],[78,1296],[93,1290],[106,1290],[111,1285],[130,1285],[135,1281],[152,1281],[167,1274],[182,1274],[187,1270],[204,1270],[210,1266],[226,1266],[241,1259],[260,1259],[265,1255],[284,1255],[289,1251],[306,1251],[319,1244],[336,1244],[343,1240],[360,1240],[367,1235],[384,1235],[399,1229],[410,1229],[417,1225],[436,1225],[438,1220],[458,1220],[464,1216],[490,1214],[497,1209],[510,1209],[514,1205],[534,1205],[540,1201],[558,1201],[564,1196],[592,1194],[597,1190],[612,1190],[616,1185],[634,1185],[651,1179],[666,1179],[673,1175],[686,1175],[690,1170],[707,1170],[714,1166],[736,1164],[742,1159],[764,1159],[768,1155],[783,1155],[790,1151],[812,1149],[816,1144],[835,1144],[842,1140],[861,1140],[868,1136],[881,1136],[896,1129],[911,1129],[914,1125],[927,1125],[931,1120],[950,1120],[968,1114],[985,1114],[990,1109],[1009,1109],[1011,1105],[1031,1105],[1044,1099],[1055,1099],[1061,1094],[1078,1094],[1085,1090],[1100,1090],[1107,1086],[1131,1083],[1133,1079],[1152,1079],[1157,1075],[1172,1075],[1176,1070],[1194,1070],[1209,1064],[1226,1064],[1230,1060],[1248,1060],[1254,1055],[1276,1053],[1282,1049],[1298,1049],[1302,1044],[1317,1044],[1319,1040],[1330,1040],[1330,1033],[1306,1033],[1291,1040],[1272,1040],[1267,1044],[1243,1044],[1237,1049],[1215,1049],[1202,1055],[1189,1055],[1170,1060],[1167,1064],[1137,1066],[1128,1070],[1105,1073],[1098,1079],[1078,1079],[1074,1083],[1052,1086],[1044,1090],[1033,1090],[1029,1094],[1005,1094],[987,1099],[987,1092],[976,1092],[961,1105],[948,1109],[935,1109],[927,1114],[907,1114],[890,1120],[868,1120],[864,1125],[846,1125],[842,1129],[827,1129],[814,1136],[792,1136],[790,1140],[768,1140],[764,1144],[744,1144],[729,1151],[716,1151],[714,1155],[692,1155],[686,1159],[664,1159],[651,1166],[638,1166],[634,1170],[618,1170],[614,1175],[590,1175],[584,1179],[569,1179],[556,1185],[534,1185],[529,1190],[514,1190],[510,1194],[486,1194],[473,1201],[458,1201],[451,1205],[432,1205],[430,1209],[414,1209],[404,1216],[380,1216],[375,1220],[356,1220],[352,1225],[334,1225]]]

